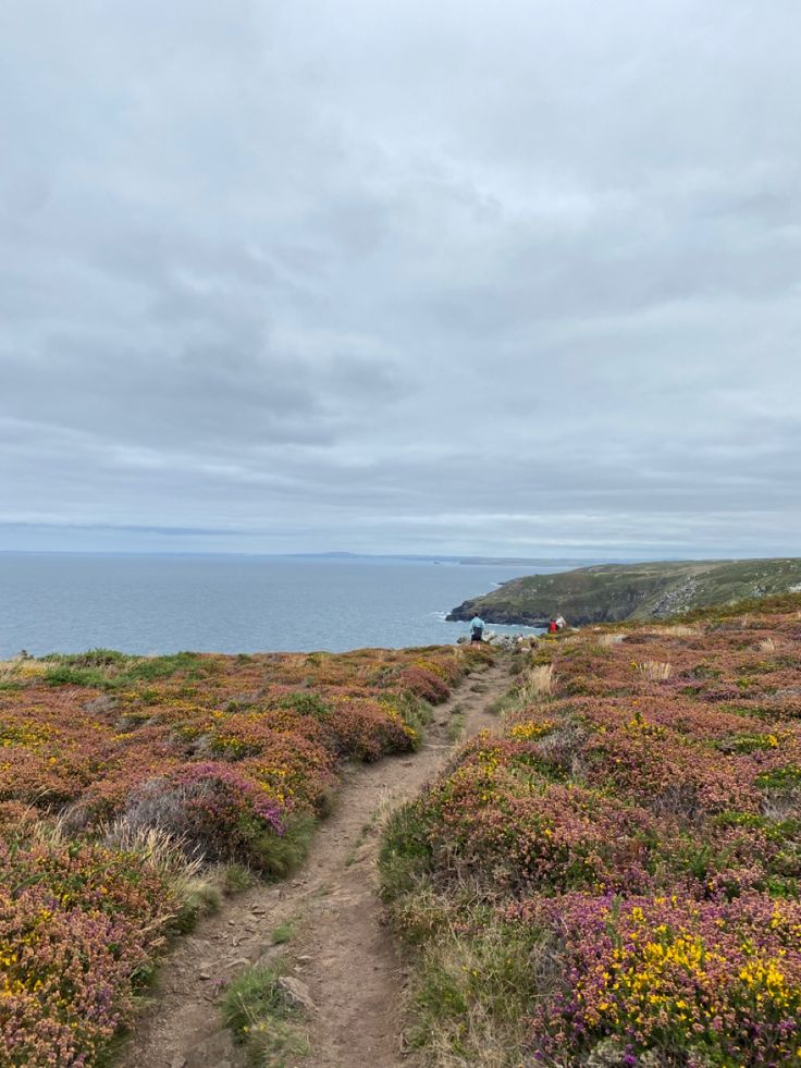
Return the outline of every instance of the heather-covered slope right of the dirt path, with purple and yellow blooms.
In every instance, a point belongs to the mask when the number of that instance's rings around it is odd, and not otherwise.
[[[519,650],[391,814],[420,1063],[799,1064],[801,594],[695,616]]]

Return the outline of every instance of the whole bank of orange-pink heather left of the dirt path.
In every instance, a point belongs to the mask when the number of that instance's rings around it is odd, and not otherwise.
[[[414,748],[417,689],[442,700],[484,662],[95,649],[0,665],[0,1064],[101,1061],[165,940],[250,871],[294,870],[340,762]]]

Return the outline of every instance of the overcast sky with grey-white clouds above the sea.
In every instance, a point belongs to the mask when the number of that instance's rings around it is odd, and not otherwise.
[[[798,0],[2,0],[0,549],[801,553]]]

